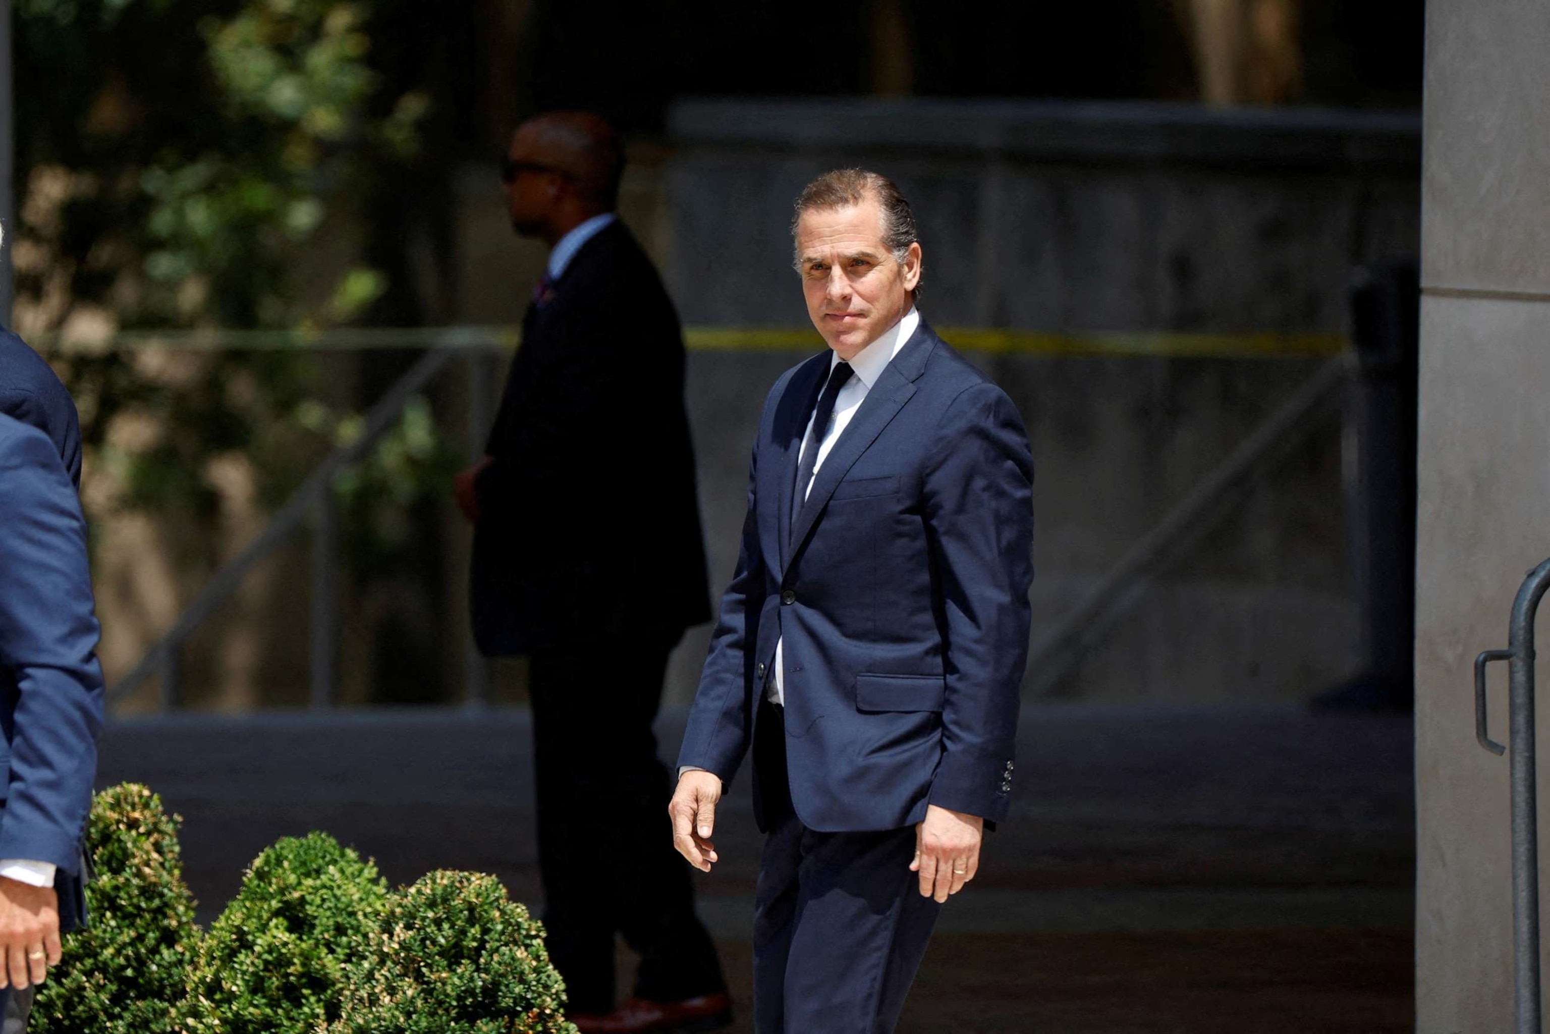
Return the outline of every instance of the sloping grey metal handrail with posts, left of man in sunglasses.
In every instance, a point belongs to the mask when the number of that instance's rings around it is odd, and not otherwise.
[[[341,470],[358,462],[391,431],[409,400],[423,391],[453,360],[465,355],[471,358],[476,371],[473,380],[477,381],[488,375],[487,363],[480,361],[482,357],[508,344],[502,335],[491,335],[473,327],[440,332],[432,341],[434,346],[370,408],[360,437],[333,450],[291,493],[259,536],[211,577],[194,603],[183,611],[177,625],[146,651],[129,674],[108,690],[108,702],[129,696],[141,682],[160,671],[160,705],[163,708],[175,707],[181,681],[183,645],[189,636],[237,591],[242,578],[254,564],[273,553],[308,519],[313,521],[315,535],[312,550],[310,701],[313,707],[329,707],[333,702],[338,671],[338,512],[333,499],[333,479]],[[484,394],[484,391],[473,392],[476,405],[470,406],[471,440],[484,431],[484,423],[487,423],[488,408],[479,405]],[[482,685],[480,676],[482,673],[473,671],[470,674],[470,687],[476,693],[477,687]]]

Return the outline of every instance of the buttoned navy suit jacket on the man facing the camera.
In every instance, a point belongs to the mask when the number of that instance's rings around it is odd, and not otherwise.
[[[809,829],[896,829],[927,805],[1004,819],[1028,663],[1032,477],[1012,400],[922,321],[790,527],[823,352],[770,391],[738,572],[679,766],[730,781],[784,637],[790,800]],[[767,828],[760,781],[755,815]]]

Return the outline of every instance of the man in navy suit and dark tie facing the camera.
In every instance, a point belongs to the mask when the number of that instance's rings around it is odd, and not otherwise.
[[[879,1032],[1006,817],[1034,471],[1012,402],[914,307],[897,188],[829,172],[792,229],[829,350],[764,403],[668,812],[710,871],[716,803],[752,752],[755,1029]]]

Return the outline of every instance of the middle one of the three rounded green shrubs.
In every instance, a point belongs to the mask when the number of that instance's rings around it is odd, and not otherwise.
[[[386,904],[377,867],[333,837],[267,848],[200,946],[178,1031],[312,1034],[336,1020],[344,969]]]

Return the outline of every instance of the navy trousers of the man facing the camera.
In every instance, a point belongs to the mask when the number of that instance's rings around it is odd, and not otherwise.
[[[758,1034],[888,1034],[941,910],[910,871],[914,826],[808,829],[790,806],[781,708],[753,743],[769,839],[753,899]]]

